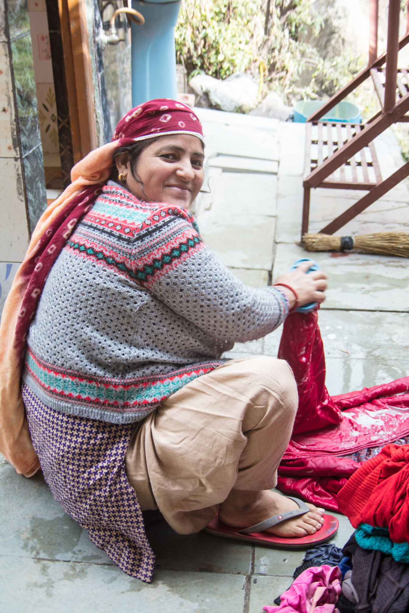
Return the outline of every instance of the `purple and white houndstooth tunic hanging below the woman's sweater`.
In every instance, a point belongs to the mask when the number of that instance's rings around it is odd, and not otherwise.
[[[23,386],[32,443],[55,500],[124,573],[152,581],[155,555],[124,458],[135,424],[55,411]]]

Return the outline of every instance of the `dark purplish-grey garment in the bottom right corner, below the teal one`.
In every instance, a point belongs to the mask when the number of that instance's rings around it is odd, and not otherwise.
[[[391,555],[358,547],[351,581],[356,613],[404,613],[409,609],[409,565]]]

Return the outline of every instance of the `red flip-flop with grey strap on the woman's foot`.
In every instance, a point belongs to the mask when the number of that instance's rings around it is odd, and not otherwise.
[[[226,524],[223,524],[220,521],[218,515],[216,515],[215,519],[213,519],[210,524],[207,525],[205,531],[211,535],[224,536],[225,538],[245,541],[246,543],[258,543],[261,545],[275,547],[276,549],[308,549],[309,547],[326,543],[326,541],[329,541],[329,539],[335,535],[339,524],[337,518],[332,515],[323,516],[324,524],[313,535],[294,538],[276,536],[270,532],[266,532],[265,530],[267,530],[267,528],[280,524],[280,522],[284,522],[286,519],[290,519],[290,517],[304,515],[304,513],[310,511],[307,504],[305,504],[302,500],[293,498],[292,496],[288,496],[287,498],[294,500],[298,504],[299,509],[296,509],[295,511],[286,511],[280,515],[275,515],[269,519],[266,519],[260,524],[256,524],[250,528],[245,528],[244,530],[237,530],[237,528],[226,526]]]

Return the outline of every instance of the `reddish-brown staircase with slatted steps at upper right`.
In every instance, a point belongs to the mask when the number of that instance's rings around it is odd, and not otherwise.
[[[376,9],[376,10],[375,10]],[[409,162],[382,180],[373,139],[394,123],[409,121],[409,70],[397,68],[400,49],[409,42],[409,27],[398,40],[400,1],[389,0],[388,47],[386,53],[373,59],[377,49],[373,32],[378,23],[377,0],[371,0],[370,64],[348,85],[340,89],[329,101],[307,120],[304,171],[304,203],[302,210],[301,240],[308,232],[310,192],[316,188],[361,189],[367,194],[343,211],[319,232],[334,234],[348,221],[359,215],[390,189],[409,175]],[[409,0],[408,0],[409,26]],[[372,61],[371,61],[372,60]],[[367,78],[372,78],[381,109],[366,124],[348,124],[319,121],[338,102],[348,96]]]

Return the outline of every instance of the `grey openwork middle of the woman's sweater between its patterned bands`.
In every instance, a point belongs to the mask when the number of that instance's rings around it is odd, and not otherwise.
[[[245,286],[207,248],[150,289],[63,250],[28,345],[58,367],[125,380],[219,359],[284,314],[273,292]]]

